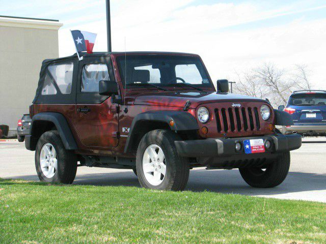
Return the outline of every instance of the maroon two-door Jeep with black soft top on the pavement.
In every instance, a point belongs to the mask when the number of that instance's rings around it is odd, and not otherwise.
[[[77,167],[132,169],[142,187],[183,190],[189,169],[238,168],[253,187],[281,184],[300,135],[268,101],[217,92],[200,56],[101,52],[42,63],[25,146],[42,181],[71,184]]]

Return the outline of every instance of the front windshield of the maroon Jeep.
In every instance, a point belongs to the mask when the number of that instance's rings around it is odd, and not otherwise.
[[[212,87],[199,57],[170,55],[129,55],[117,57],[125,86],[155,84],[184,87]],[[186,85],[188,84],[188,85]]]

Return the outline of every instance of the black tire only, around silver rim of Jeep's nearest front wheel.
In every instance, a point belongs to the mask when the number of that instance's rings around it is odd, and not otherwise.
[[[138,179],[142,187],[168,191],[184,190],[189,177],[189,161],[178,155],[174,144],[177,140],[180,140],[179,136],[169,130],[154,130],[144,135],[139,143],[136,159]],[[143,170],[144,153],[151,144],[156,144],[163,150],[166,160],[166,175],[158,186],[147,181]]]

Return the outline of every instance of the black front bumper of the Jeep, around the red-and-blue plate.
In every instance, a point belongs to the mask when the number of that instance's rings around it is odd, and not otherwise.
[[[265,153],[245,154],[243,141],[250,139],[263,139],[264,142],[269,140],[271,146],[266,148]],[[242,148],[236,151],[235,144],[240,142]],[[273,155],[285,151],[295,150],[301,147],[301,135],[268,135],[256,137],[239,137],[239,138],[208,138],[204,140],[187,140],[175,141],[178,154],[188,158],[232,158],[232,160],[242,160],[256,155]]]

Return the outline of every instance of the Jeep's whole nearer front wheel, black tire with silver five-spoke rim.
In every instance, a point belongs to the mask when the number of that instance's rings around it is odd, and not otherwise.
[[[182,191],[189,177],[187,158],[180,157],[174,141],[178,135],[169,130],[148,132],[137,150],[137,174],[142,187]]]

